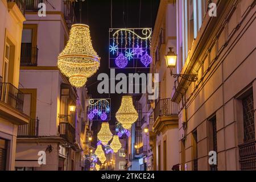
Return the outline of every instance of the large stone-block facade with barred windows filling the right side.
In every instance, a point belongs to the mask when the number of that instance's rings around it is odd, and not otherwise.
[[[179,103],[180,168],[255,170],[255,1],[210,3],[174,4],[174,72],[197,75],[196,82],[179,77],[172,92]],[[217,163],[209,162],[211,151]]]

